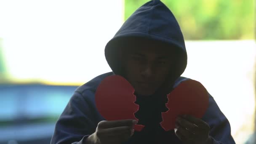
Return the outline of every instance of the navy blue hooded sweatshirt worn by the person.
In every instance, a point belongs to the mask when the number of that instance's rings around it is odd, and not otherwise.
[[[51,144],[85,144],[85,139],[95,132],[98,123],[105,120],[95,105],[94,94],[101,81],[109,75],[123,75],[120,52],[127,45],[161,43],[176,51],[176,65],[163,85],[152,96],[137,96],[138,124],[145,125],[141,132],[133,134],[124,144],[182,144],[173,130],[164,131],[160,126],[161,112],[170,93],[179,83],[188,80],[181,77],[187,66],[184,37],[173,13],[160,1],[151,0],[137,9],[123,24],[105,47],[105,57],[112,72],[99,75],[80,86],[69,100],[56,123]],[[227,118],[209,94],[209,107],[202,118],[211,127],[213,144],[235,144]]]

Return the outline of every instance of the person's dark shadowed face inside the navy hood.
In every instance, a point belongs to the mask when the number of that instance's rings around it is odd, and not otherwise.
[[[135,94],[152,95],[164,83],[173,65],[171,48],[148,44],[125,49],[125,78],[135,89]]]

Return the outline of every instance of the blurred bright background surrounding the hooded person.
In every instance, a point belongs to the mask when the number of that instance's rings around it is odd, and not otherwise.
[[[75,89],[111,71],[104,47],[148,0],[0,0],[0,144],[47,144]],[[188,65],[231,124],[254,139],[254,0],[162,0],[183,31]]]

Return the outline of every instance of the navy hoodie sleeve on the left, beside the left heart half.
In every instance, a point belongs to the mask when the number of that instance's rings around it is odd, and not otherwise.
[[[93,112],[81,93],[75,91],[56,123],[51,144],[85,144],[94,132]]]

